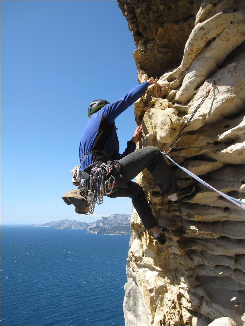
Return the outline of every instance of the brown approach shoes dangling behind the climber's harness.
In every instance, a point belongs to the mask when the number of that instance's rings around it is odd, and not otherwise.
[[[75,208],[75,212],[78,214],[87,214],[89,212],[89,203],[83,196],[80,195],[80,190],[70,190],[67,191],[62,199],[67,205],[73,204]]]

